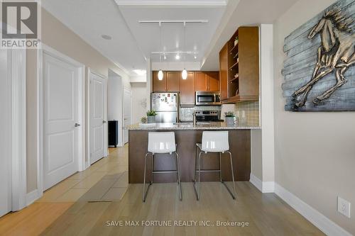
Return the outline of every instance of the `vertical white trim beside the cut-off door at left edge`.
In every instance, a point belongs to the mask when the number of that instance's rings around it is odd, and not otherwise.
[[[11,210],[26,207],[26,50],[9,50],[11,74]]]

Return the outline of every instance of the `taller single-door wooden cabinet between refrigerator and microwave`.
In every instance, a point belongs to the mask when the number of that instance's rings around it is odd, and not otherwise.
[[[187,79],[180,79],[180,105],[195,105],[195,72],[187,72]]]

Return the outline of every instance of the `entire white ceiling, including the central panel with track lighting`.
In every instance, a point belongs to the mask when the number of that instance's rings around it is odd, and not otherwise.
[[[159,61],[158,55],[151,54],[157,51],[197,52],[197,59],[190,55],[186,61],[204,62],[206,70],[218,69],[218,52],[238,26],[272,23],[295,1],[45,0],[42,5],[104,56],[134,75],[133,69],[146,69],[146,58]],[[138,21],[164,20],[208,23],[187,24],[185,47],[183,24],[163,23],[162,49],[158,23]],[[101,35],[110,35],[112,40],[104,40]],[[165,62],[176,62],[175,55],[167,55]]]

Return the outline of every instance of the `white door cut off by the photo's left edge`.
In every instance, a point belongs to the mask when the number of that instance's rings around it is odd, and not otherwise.
[[[7,50],[0,50],[0,217],[11,210],[11,94]]]

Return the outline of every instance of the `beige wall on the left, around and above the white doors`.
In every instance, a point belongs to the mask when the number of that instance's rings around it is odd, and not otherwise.
[[[64,26],[55,17],[43,9],[42,11],[42,41],[45,45],[53,47],[62,54],[81,62],[92,71],[107,77],[108,69],[119,74],[126,86],[129,77],[116,64],[104,57],[82,38]],[[118,52],[119,53],[119,52]],[[37,74],[36,52],[28,50],[27,53],[27,192],[37,189]],[[86,84],[87,86],[87,84]]]

